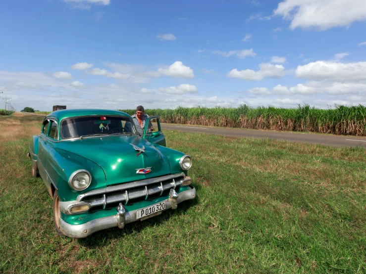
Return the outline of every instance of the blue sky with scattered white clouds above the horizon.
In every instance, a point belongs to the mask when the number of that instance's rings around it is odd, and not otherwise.
[[[17,110],[366,105],[364,0],[1,1],[0,33]]]

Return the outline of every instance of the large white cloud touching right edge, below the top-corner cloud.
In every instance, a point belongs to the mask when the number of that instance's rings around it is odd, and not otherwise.
[[[338,63],[316,61],[304,66],[298,66],[295,76],[313,80],[361,81],[366,80],[366,62]]]

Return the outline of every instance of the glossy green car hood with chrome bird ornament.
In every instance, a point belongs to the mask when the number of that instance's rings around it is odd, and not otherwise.
[[[145,147],[136,155],[131,145]],[[133,135],[90,137],[59,142],[57,147],[80,155],[101,166],[107,185],[127,183],[170,174],[169,161],[146,139]],[[151,168],[151,172],[137,174],[137,169]]]

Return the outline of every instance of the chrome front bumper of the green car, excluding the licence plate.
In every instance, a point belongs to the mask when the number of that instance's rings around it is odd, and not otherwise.
[[[174,193],[169,193],[169,198],[164,200],[165,201],[165,210],[167,209],[176,209],[177,204],[186,201],[192,200],[196,198],[196,189],[190,185],[191,189],[185,190],[177,194],[175,191]],[[132,211],[125,211],[122,204],[119,204],[117,210],[117,214],[94,219],[89,221],[85,224],[81,225],[70,225],[63,221],[61,218],[59,220],[59,226],[61,232],[67,236],[72,238],[85,238],[90,234],[97,232],[99,230],[107,229],[107,228],[124,228],[125,224],[129,224],[136,220],[136,212],[137,210]]]

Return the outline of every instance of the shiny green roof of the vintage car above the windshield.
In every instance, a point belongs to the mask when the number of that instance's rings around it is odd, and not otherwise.
[[[124,116],[130,117],[127,113],[118,110],[110,109],[62,109],[51,112],[46,118],[52,116],[61,121],[64,118],[77,117],[77,116]]]

